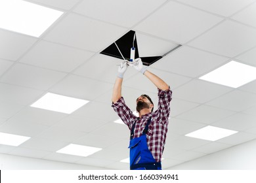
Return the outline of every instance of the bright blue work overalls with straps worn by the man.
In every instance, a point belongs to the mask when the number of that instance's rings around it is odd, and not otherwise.
[[[140,137],[133,139],[133,133],[136,122],[131,128],[130,137],[130,169],[131,170],[161,170],[161,162],[156,162],[146,142],[146,133],[148,132],[148,125],[151,118],[148,119],[146,126]]]

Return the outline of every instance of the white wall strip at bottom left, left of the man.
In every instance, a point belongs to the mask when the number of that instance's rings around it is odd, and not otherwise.
[[[73,163],[62,163],[58,161],[48,161],[44,159],[25,158],[0,154],[1,170],[97,170],[104,169]]]

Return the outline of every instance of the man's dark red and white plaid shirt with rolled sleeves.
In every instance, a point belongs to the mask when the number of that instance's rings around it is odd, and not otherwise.
[[[168,117],[170,114],[170,102],[172,99],[171,95],[172,91],[170,89],[166,91],[158,89],[158,110],[142,115],[141,118],[135,116],[130,108],[125,105],[123,97],[121,97],[117,103],[112,103],[112,107],[130,130],[133,124],[136,123],[133,138],[140,137],[146,122],[151,118],[148,133],[146,133],[146,139],[148,149],[157,162],[161,161],[161,155],[165,145],[169,123]]]

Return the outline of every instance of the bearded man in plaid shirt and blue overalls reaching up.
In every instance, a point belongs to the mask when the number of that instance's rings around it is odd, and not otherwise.
[[[172,92],[161,78],[146,70],[140,58],[135,59],[131,65],[158,88],[158,109],[153,112],[154,104],[148,95],[140,95],[136,101],[139,118],[125,105],[121,96],[123,75],[128,67],[125,61],[118,68],[112,95],[112,107],[131,131],[130,169],[160,170]]]

